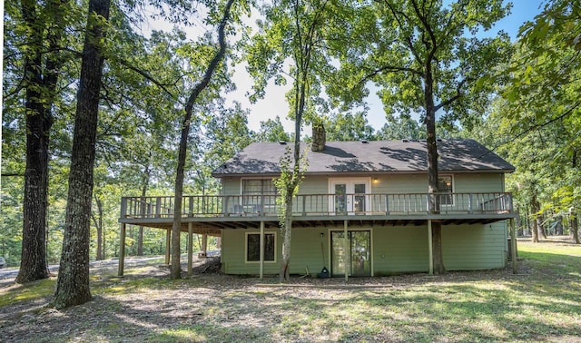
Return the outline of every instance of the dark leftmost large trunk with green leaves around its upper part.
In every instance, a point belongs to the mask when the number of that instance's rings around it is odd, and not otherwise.
[[[59,53],[64,33],[64,4],[48,1],[44,17],[36,2],[23,0],[21,9],[27,26],[25,50],[26,167],[23,209],[23,239],[20,270],[16,282],[48,278],[46,265],[46,214],[48,208],[49,133],[53,125],[51,107],[63,64]],[[49,44],[48,49],[44,41]]]

